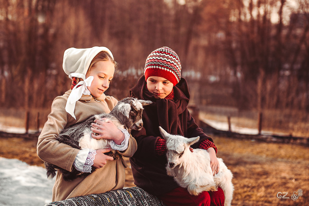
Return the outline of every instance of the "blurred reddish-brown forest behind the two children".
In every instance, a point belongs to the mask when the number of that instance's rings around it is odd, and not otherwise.
[[[93,46],[120,65],[107,95],[128,96],[168,46],[205,118],[254,128],[263,112],[266,130],[309,136],[307,0],[0,0],[0,124],[31,111],[42,127],[70,88],[64,51]]]

